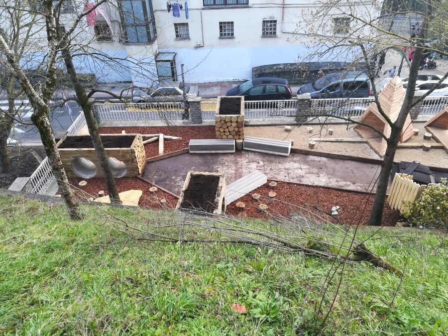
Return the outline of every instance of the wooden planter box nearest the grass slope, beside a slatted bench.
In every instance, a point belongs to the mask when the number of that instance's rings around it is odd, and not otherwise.
[[[221,215],[225,213],[224,195],[224,173],[189,171],[176,209]]]

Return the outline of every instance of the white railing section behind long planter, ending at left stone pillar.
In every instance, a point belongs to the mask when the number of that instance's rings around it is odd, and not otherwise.
[[[182,102],[95,104],[100,121],[182,119]]]

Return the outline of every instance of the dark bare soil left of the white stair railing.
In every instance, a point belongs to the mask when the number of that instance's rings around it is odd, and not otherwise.
[[[34,154],[34,155],[33,155]],[[9,173],[0,170],[0,188],[8,189],[17,177],[29,177],[39,166],[35,155],[41,159],[45,158],[43,147],[9,147],[11,164],[14,169]]]

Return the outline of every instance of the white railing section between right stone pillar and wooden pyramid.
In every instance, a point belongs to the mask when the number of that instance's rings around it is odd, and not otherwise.
[[[372,102],[374,102],[374,98],[312,99],[309,114],[360,116]]]

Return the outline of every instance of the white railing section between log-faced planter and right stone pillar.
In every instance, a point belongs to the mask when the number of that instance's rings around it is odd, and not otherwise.
[[[244,102],[245,119],[265,119],[278,118],[296,115],[297,101],[278,100],[278,101],[247,101]]]

